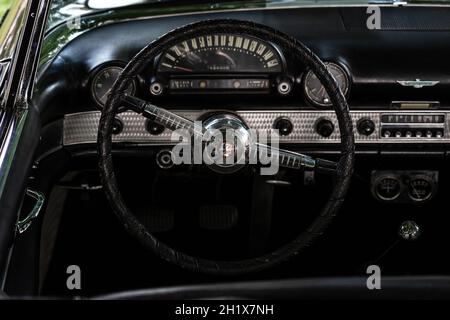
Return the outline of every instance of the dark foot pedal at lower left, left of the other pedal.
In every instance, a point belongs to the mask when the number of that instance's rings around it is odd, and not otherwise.
[[[150,232],[166,232],[174,228],[174,211],[164,208],[151,208],[138,210],[136,218]]]

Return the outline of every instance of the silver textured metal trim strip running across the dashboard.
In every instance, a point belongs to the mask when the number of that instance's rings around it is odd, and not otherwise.
[[[210,110],[202,111],[175,111],[178,115],[190,120],[200,118],[204,113]],[[281,136],[280,143],[295,144],[336,144],[340,143],[338,122],[333,111],[322,110],[277,110],[277,111],[236,111],[237,115],[247,123],[247,125],[256,130],[271,130],[274,121],[279,117],[289,118],[294,125],[292,133],[288,136]],[[427,111],[408,111],[408,110],[385,110],[385,111],[351,111],[353,119],[355,141],[357,144],[383,144],[383,143],[450,143],[449,119],[450,111],[427,110]],[[382,114],[408,114],[408,115],[443,115],[445,122],[442,124],[444,135],[442,138],[385,138],[381,137],[381,115]],[[171,131],[165,130],[160,135],[152,135],[145,129],[146,119],[134,112],[124,112],[117,116],[123,122],[123,131],[113,136],[113,142],[145,144],[145,145],[170,145]],[[322,137],[315,131],[315,125],[319,119],[329,119],[335,126],[335,131],[328,137]],[[100,119],[100,112],[82,112],[68,114],[64,118],[63,145],[77,145],[97,142],[97,126]],[[365,136],[359,134],[356,130],[360,119],[370,119],[375,124],[375,131]],[[391,126],[392,124],[387,124]],[[399,124],[402,126],[404,124]],[[435,127],[431,124],[430,127]],[[423,127],[420,124],[419,127]]]

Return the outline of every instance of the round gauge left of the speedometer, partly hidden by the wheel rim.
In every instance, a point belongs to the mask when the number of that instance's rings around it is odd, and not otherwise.
[[[91,83],[91,94],[94,101],[100,108],[103,108],[108,99],[108,95],[111,89],[119,78],[120,73],[123,71],[122,67],[109,66],[99,70]],[[134,81],[130,83],[125,93],[129,95],[134,95],[136,93],[136,84]]]

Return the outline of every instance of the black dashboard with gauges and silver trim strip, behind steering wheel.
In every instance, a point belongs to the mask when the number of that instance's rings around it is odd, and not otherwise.
[[[60,123],[63,145],[95,143],[99,110],[114,81],[147,43],[202,19],[253,20],[296,37],[325,61],[348,99],[361,150],[378,153],[394,146],[422,152],[426,146],[445,154],[450,142],[448,11],[387,7],[382,28],[375,31],[366,28],[365,8],[359,7],[254,8],[161,18],[143,11],[140,19],[109,24],[99,17],[98,26],[77,34],[41,66],[36,105],[44,123]],[[49,42],[58,28],[65,26],[50,30]],[[130,81],[127,93],[191,120],[229,110],[251,128],[279,129],[280,142],[297,148],[329,152],[340,142],[332,104],[317,77],[290,52],[245,34],[202,34],[166,48]],[[118,114],[116,121],[117,142],[170,143],[167,129],[130,112]]]

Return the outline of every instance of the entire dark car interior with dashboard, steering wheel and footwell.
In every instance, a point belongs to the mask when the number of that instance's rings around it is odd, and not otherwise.
[[[287,284],[366,277],[370,265],[447,276],[450,8],[382,6],[370,30],[366,6],[198,5],[99,10],[78,30],[47,28],[28,182],[45,204],[18,236],[5,292]],[[150,103],[166,122],[145,116]],[[175,164],[173,114],[279,130],[280,148],[338,173],[289,160],[268,176]],[[76,292],[70,265],[82,270]]]

